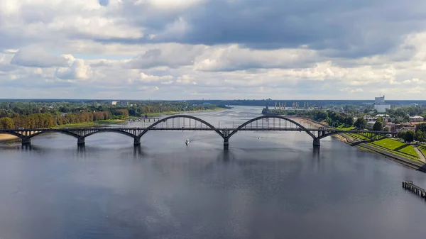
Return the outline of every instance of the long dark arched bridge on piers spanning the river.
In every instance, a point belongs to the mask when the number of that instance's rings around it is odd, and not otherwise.
[[[31,144],[31,138],[45,133],[62,133],[77,138],[77,145],[84,145],[85,138],[97,133],[120,133],[134,140],[134,145],[141,144],[141,138],[149,131],[154,130],[202,130],[214,131],[224,140],[224,148],[229,147],[229,138],[240,131],[300,131],[312,137],[314,147],[320,147],[320,140],[339,133],[362,134],[369,140],[379,140],[389,135],[395,136],[396,132],[366,131],[366,130],[339,130],[336,128],[320,127],[306,128],[293,119],[285,116],[259,116],[253,118],[236,128],[216,128],[207,121],[195,116],[175,115],[160,119],[145,128],[26,128],[26,129],[0,129],[0,133],[15,135],[21,138],[23,145]]]

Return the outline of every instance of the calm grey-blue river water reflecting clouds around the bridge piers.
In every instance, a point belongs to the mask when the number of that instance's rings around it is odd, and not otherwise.
[[[238,126],[261,108],[191,113]],[[129,123],[143,127],[143,123]],[[147,125],[146,125],[147,126]],[[259,137],[259,139],[258,139]],[[185,145],[185,139],[194,140]],[[67,135],[0,145],[0,238],[424,238],[426,174],[301,132]]]

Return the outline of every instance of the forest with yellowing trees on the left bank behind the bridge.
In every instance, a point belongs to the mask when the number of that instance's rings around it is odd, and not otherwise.
[[[113,106],[105,101],[3,101],[0,102],[0,128],[50,128],[69,123],[141,117],[148,113],[199,111],[217,106],[179,101],[134,101]]]

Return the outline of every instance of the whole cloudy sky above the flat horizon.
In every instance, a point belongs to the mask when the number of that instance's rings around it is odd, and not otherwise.
[[[425,0],[0,1],[2,99],[425,91]]]

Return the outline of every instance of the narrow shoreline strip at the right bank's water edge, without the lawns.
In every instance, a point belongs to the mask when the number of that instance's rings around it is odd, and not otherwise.
[[[313,125],[315,125],[317,127],[324,126],[321,123],[313,121],[309,118],[299,118],[299,117],[291,117],[291,116],[288,117],[288,118],[298,119],[302,123],[308,123],[309,122],[309,123],[312,123]],[[410,160],[408,158],[401,157],[400,155],[394,155],[391,152],[386,152],[385,150],[379,150],[377,148],[372,147],[371,145],[368,145],[368,143],[356,142],[353,138],[351,138],[350,135],[336,134],[336,135],[332,135],[331,137],[337,138],[337,140],[340,140],[340,141],[346,143],[347,145],[356,146],[360,150],[372,152],[373,154],[381,155],[382,157],[385,157],[387,159],[398,162],[401,165],[405,165],[407,167],[419,170],[421,172],[426,172],[426,170],[425,170],[426,164],[422,164],[420,162],[415,162],[414,160]]]

